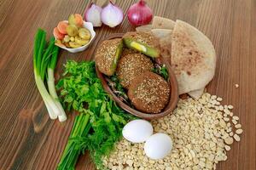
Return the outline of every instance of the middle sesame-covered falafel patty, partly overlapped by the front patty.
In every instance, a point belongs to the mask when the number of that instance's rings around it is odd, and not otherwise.
[[[152,61],[143,54],[126,54],[119,59],[116,74],[120,84],[129,88],[131,81],[145,71],[154,68]]]

